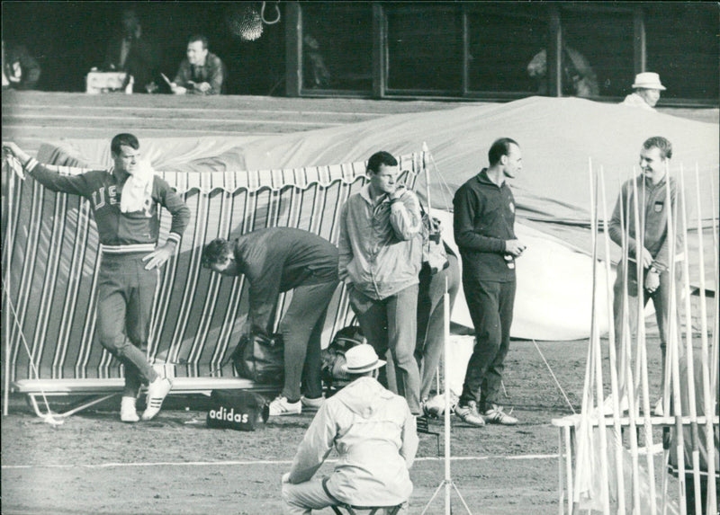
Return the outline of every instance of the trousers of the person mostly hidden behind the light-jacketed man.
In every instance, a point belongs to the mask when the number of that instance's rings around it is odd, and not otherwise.
[[[448,267],[431,273],[429,267],[420,271],[418,292],[418,337],[415,342],[415,360],[420,369],[420,399],[427,399],[437,365],[443,352],[445,329],[445,286],[450,297],[450,312],[453,311],[457,290],[460,289],[460,267],[453,254],[447,255]],[[438,392],[439,393],[439,392]]]

